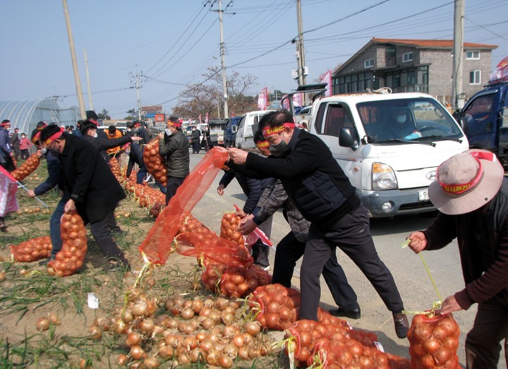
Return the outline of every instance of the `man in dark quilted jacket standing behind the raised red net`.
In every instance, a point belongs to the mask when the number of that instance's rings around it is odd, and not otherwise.
[[[189,174],[189,152],[185,133],[177,116],[170,116],[164,133],[159,134],[159,154],[166,158],[166,205]]]

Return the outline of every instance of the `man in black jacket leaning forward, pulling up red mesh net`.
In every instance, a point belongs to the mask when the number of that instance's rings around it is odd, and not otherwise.
[[[380,260],[370,234],[367,210],[332,152],[316,135],[296,128],[286,110],[262,116],[259,129],[270,144],[268,158],[236,148],[231,161],[252,177],[280,179],[297,209],[310,222],[301,265],[299,319],[317,320],[320,275],[337,246],[355,262],[392,312],[397,337],[409,322],[392,274]],[[243,167],[243,168],[242,168]]]

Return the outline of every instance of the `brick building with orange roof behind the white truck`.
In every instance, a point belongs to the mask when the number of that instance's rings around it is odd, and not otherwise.
[[[466,99],[488,81],[497,45],[464,42]],[[452,100],[453,40],[373,38],[332,74],[334,94],[377,90],[425,92],[442,104]]]

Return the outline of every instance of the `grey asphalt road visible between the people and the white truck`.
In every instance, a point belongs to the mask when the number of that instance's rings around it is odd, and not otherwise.
[[[204,154],[205,152],[198,155],[191,153],[191,169],[202,159]],[[224,212],[234,211],[234,204],[241,207],[246,200],[246,196],[243,195],[237,181],[231,182],[224,190],[224,196],[220,196],[217,193],[217,186],[219,186],[221,176],[222,172],[219,172],[212,186],[192,211],[195,217],[218,234]],[[409,248],[401,248],[401,243],[404,242],[411,231],[425,229],[432,220],[432,217],[428,215],[416,214],[395,217],[394,219],[373,219],[370,222],[377,252],[392,272],[404,300],[405,308],[408,311],[428,310],[432,308],[433,302],[438,301],[440,298],[444,299],[464,288],[456,242],[451,243],[442,250],[422,253],[430,276],[436,284],[437,291],[430,280],[428,272],[425,270],[420,255],[414,254]],[[289,226],[282,216],[282,212],[279,211],[274,214],[270,238],[277,245],[277,242],[288,232]],[[273,261],[274,251],[271,250],[270,253],[271,261]],[[358,303],[362,310],[361,319],[350,320],[350,324],[353,327],[374,331],[385,347],[385,351],[409,358],[409,341],[397,338],[393,328],[392,315],[382,303],[373,286],[341,250],[337,251],[337,257],[339,263],[344,267],[349,283],[358,295]],[[299,289],[298,267],[299,265],[297,265],[294,273],[293,285]],[[321,282],[321,287],[320,306],[324,309],[334,308],[332,296],[329,294],[324,280]],[[438,297],[438,293],[440,297]],[[460,346],[457,354],[459,355],[459,362],[464,366],[466,363],[464,341],[466,332],[473,325],[475,314],[476,305],[473,305],[469,310],[454,313],[454,318],[461,327]],[[409,315],[410,322],[412,316]],[[501,357],[504,357],[503,354]],[[504,368],[504,365],[502,359],[498,368]]]

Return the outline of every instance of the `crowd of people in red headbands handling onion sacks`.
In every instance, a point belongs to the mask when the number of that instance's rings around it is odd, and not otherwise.
[[[126,135],[109,127],[100,138],[94,121],[78,122],[79,130],[41,122],[31,140],[25,133],[18,137],[17,129],[9,135],[10,126],[8,120],[0,124],[0,165],[12,171],[18,155],[25,158],[27,147],[35,145],[47,159],[48,177],[28,195],[41,195],[55,186],[61,190],[50,222],[52,258],[61,247],[56,231],[59,217],[63,212],[76,211],[90,223],[104,257],[113,261],[114,267],[128,270],[130,263],[114,241],[114,234],[121,232],[114,209],[126,195],[107,160],[118,157],[130,144],[127,174],[138,164],[137,180],[143,181],[147,174],[143,145],[150,140],[143,124],[133,122]],[[200,134],[197,128],[191,133],[193,153],[200,151]],[[176,116],[169,118],[157,139],[159,154],[167,161],[164,190],[168,203],[189,174],[189,145]],[[260,155],[237,148],[218,149],[226,150],[229,158],[217,193],[223,195],[234,178],[240,183],[247,197],[237,212],[243,218],[238,228],[243,234],[259,226],[270,235],[272,214],[282,208],[290,231],[277,245],[272,282],[291,286],[296,261],[303,257],[299,318],[317,320],[321,274],[337,303],[330,313],[361,317],[356,293],[337,261],[336,249],[340,248],[392,313],[397,337],[405,338],[409,322],[397,284],[377,254],[368,214],[356,188],[327,145],[298,128],[294,116],[285,110],[262,116],[254,140]],[[502,341],[508,351],[508,179],[497,157],[484,150],[454,155],[436,172],[429,197],[439,214],[427,229],[409,234],[409,248],[415,253],[439,250],[457,239],[465,287],[445,298],[437,313],[478,304],[476,320],[466,338],[467,368],[496,368]],[[0,219],[0,229],[5,231],[4,218]],[[268,252],[261,244],[253,247],[253,256],[258,265],[270,269]],[[505,359],[508,363],[508,356]]]

